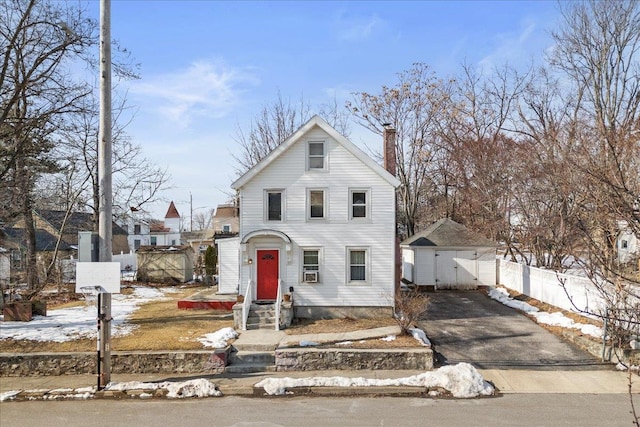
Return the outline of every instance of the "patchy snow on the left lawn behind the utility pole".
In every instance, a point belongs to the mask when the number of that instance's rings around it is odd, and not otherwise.
[[[131,314],[143,303],[164,299],[167,289],[135,287],[131,295],[112,294],[112,336],[130,334]],[[97,336],[97,305],[47,310],[47,316],[34,316],[31,322],[0,322],[0,339],[65,342]]]

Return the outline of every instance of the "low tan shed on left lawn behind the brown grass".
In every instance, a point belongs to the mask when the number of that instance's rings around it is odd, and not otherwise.
[[[188,282],[193,280],[193,248],[183,246],[140,246],[138,280]]]

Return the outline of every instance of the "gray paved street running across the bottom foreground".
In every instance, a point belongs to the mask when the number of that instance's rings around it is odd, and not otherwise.
[[[624,426],[625,394],[424,398],[96,400],[0,404],[0,425],[100,426]]]

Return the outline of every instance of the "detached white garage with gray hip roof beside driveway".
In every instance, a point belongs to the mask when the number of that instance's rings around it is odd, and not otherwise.
[[[496,244],[443,218],[400,243],[402,277],[435,289],[476,289],[496,284]]]

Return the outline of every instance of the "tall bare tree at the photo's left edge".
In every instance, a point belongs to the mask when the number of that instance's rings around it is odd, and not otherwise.
[[[37,287],[33,188],[55,166],[48,157],[61,117],[89,89],[68,65],[95,40],[95,25],[77,8],[39,0],[0,5],[0,216],[17,212],[27,237],[26,278]],[[11,195],[16,204],[9,204]]]

